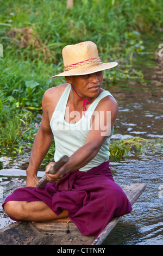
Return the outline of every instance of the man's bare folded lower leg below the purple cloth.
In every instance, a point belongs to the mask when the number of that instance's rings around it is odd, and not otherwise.
[[[55,212],[42,201],[9,201],[5,203],[3,207],[8,216],[21,221],[45,222],[68,216],[67,210],[63,210],[60,215],[55,214]]]

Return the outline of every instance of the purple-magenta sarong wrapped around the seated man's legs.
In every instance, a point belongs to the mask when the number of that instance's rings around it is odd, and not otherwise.
[[[83,235],[95,235],[113,217],[131,212],[131,204],[112,178],[109,161],[87,172],[76,170],[66,174],[59,183],[49,182],[44,188],[17,188],[8,201],[43,201],[55,214],[68,211],[68,217]],[[11,218],[14,221],[17,221]]]

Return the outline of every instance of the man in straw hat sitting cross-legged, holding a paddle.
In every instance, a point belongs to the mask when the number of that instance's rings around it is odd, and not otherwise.
[[[97,236],[114,217],[131,211],[131,205],[112,179],[109,141],[118,105],[101,88],[102,70],[117,63],[102,63],[91,41],[68,45],[62,50],[67,83],[50,88],[42,99],[42,121],[33,145],[25,188],[14,191],[4,202],[13,220],[52,221],[69,217],[82,234]],[[56,77],[56,76],[54,76]],[[52,77],[52,78],[54,78]],[[111,115],[110,115],[111,113]],[[70,159],[56,174],[49,174],[42,190],[34,187],[37,170],[55,139],[54,161]]]

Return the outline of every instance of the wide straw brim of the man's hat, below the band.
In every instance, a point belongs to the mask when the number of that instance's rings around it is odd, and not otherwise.
[[[58,75],[52,76],[51,78],[55,78],[58,76],[80,76],[80,75],[87,75],[91,73],[95,73],[98,71],[106,70],[106,69],[111,69],[117,66],[117,62],[109,62],[109,63],[101,63],[98,65],[93,65],[88,68],[74,68],[72,70],[64,71]]]

